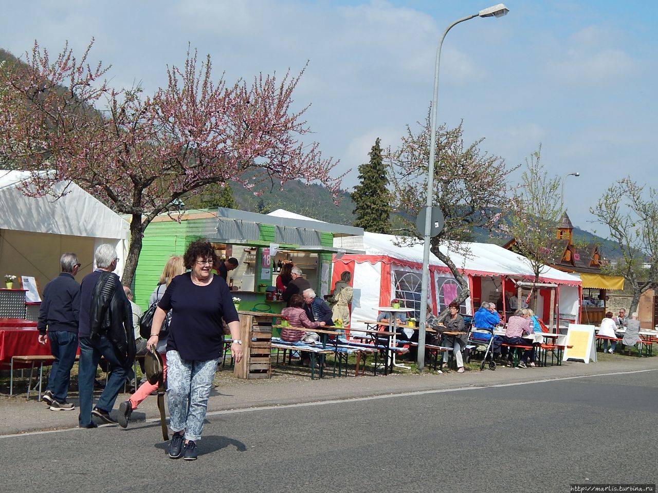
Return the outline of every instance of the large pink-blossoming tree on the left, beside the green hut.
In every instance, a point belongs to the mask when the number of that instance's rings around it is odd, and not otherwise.
[[[35,42],[26,64],[0,70],[0,160],[30,172],[22,192],[53,193],[73,181],[118,213],[130,215],[130,248],[122,281],[137,267],[145,228],[209,183],[238,182],[254,193],[265,182],[318,180],[337,196],[336,162],[323,158],[309,133],[306,108],[291,109],[299,76],[213,82],[211,59],[188,51],[182,68],[153,95],[113,89],[109,66],[92,66],[68,44],[56,59]],[[303,72],[302,72],[303,73]]]

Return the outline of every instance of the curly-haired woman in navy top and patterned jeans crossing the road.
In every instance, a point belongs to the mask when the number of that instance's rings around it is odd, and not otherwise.
[[[157,346],[159,327],[172,310],[166,345],[167,403],[169,426],[174,436],[168,453],[172,459],[197,458],[208,396],[222,353],[222,319],[231,331],[231,353],[242,359],[240,323],[226,281],[211,272],[217,261],[215,248],[207,241],[190,244],[183,257],[191,269],[172,279],[153,316],[149,348]],[[188,398],[190,406],[188,407]]]

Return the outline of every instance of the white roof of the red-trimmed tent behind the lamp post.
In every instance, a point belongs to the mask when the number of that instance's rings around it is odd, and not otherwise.
[[[363,237],[336,238],[334,239],[334,247],[361,249],[365,250],[366,256],[386,256],[417,264],[420,267],[422,265],[422,244],[398,247],[394,244],[395,238],[393,235],[381,235],[366,231],[363,233]],[[465,256],[463,252],[450,250],[450,258],[457,268],[463,268],[469,274],[515,275],[526,279],[534,277],[528,262],[519,254],[490,243],[463,243],[461,245],[467,246],[470,249],[470,254]],[[447,247],[442,247],[443,252],[447,252],[447,250]],[[430,266],[447,268],[431,252]],[[580,277],[545,266],[540,275],[540,281],[574,285],[580,284]]]

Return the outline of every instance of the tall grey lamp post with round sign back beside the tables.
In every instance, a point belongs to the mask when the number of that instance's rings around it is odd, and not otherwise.
[[[434,63],[434,97],[432,97],[432,113],[430,116],[431,120],[431,131],[430,131],[430,163],[427,173],[427,213],[425,216],[425,228],[424,228],[424,248],[422,252],[422,281],[420,287],[420,320],[418,323],[418,371],[422,372],[425,366],[425,324],[427,321],[427,291],[428,291],[428,282],[430,277],[430,239],[431,239],[431,228],[432,228],[432,195],[434,191],[434,157],[436,154],[436,115],[437,115],[437,101],[439,97],[439,63],[441,60],[441,47],[443,45],[443,39],[445,35],[448,34],[448,31],[453,27],[457,26],[460,22],[465,20],[470,20],[475,17],[501,17],[509,12],[509,9],[505,7],[504,4],[499,3],[484,9],[477,14],[468,15],[459,20],[455,20],[450,24],[446,30],[443,32],[441,39],[439,40],[439,45],[436,49],[436,62]]]

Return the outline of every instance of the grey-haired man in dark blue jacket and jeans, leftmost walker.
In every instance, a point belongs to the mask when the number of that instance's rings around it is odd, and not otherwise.
[[[59,265],[61,273],[43,289],[37,328],[39,344],[45,344],[47,337],[50,352],[55,356],[43,400],[51,411],[70,411],[75,406],[66,402],[66,394],[78,352],[80,285],[74,277],[80,269],[80,262],[76,254],[65,253],[59,259]]]

